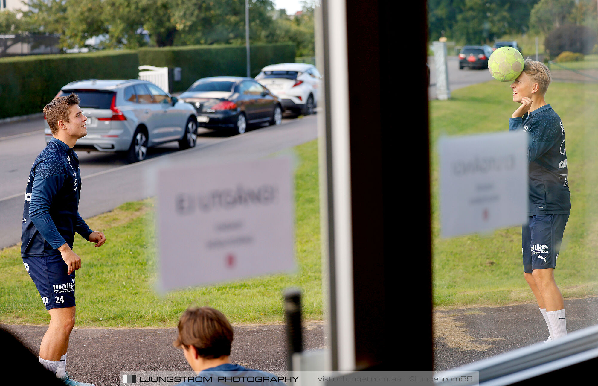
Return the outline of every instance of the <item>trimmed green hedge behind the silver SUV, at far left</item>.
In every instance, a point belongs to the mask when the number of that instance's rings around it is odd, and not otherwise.
[[[79,79],[138,77],[135,51],[102,51],[0,59],[0,118],[40,113],[60,91]]]

